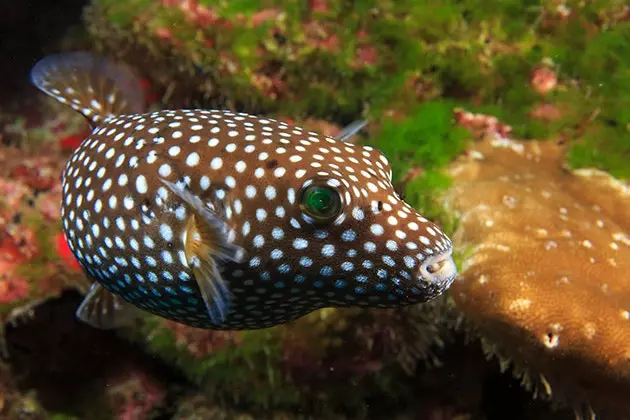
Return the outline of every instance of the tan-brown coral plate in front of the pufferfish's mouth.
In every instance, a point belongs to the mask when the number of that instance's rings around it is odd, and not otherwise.
[[[551,142],[488,139],[451,167],[454,239],[472,246],[452,297],[525,383],[630,416],[630,188],[563,158]]]

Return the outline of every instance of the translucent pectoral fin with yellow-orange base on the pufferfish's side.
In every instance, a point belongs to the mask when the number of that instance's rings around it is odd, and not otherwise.
[[[231,228],[221,212],[221,205],[208,207],[183,186],[161,180],[190,209],[184,249],[197,280],[197,286],[214,324],[227,319],[232,294],[220,270],[220,261],[242,262],[244,250],[231,242]]]

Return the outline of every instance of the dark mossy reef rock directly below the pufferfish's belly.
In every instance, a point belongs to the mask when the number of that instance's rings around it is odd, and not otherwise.
[[[403,386],[392,383],[411,382],[418,370],[439,366],[436,352],[449,337],[438,320],[447,315],[443,304],[433,305],[324,309],[284,326],[242,332],[146,316],[126,334],[217,400],[253,411],[356,415],[369,395],[385,393],[383,404],[393,406],[395,389]],[[355,386],[348,389],[348,381]]]

